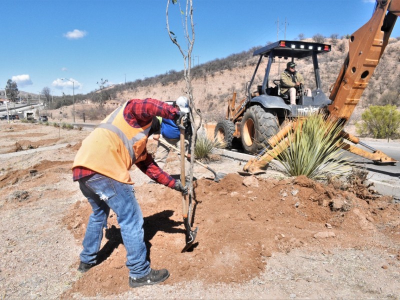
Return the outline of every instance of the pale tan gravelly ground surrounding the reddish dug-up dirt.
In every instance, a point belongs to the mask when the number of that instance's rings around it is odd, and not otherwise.
[[[0,145],[10,144],[10,132],[0,128]],[[43,139],[42,135],[23,138]],[[37,128],[36,128],[37,131]],[[57,135],[54,128],[43,127],[45,138]],[[87,132],[64,131],[65,138],[57,143],[79,142]],[[74,133],[74,134],[72,134]],[[12,135],[12,134],[11,134]],[[14,134],[16,135],[16,134]],[[66,136],[68,135],[68,136]],[[74,136],[72,136],[74,135]],[[6,137],[6,138],[5,138]],[[6,141],[6,139],[8,141]],[[12,142],[11,142],[12,143]],[[71,181],[67,168],[55,161],[71,162],[76,150],[72,146],[43,148],[21,152],[12,157],[1,156],[0,178],[12,171],[16,183],[1,185],[0,207],[0,297],[7,299],[55,299],[71,288],[82,275],[76,271],[81,240],[75,239],[61,222],[71,205],[82,200],[78,184]],[[2,154],[6,155],[6,154]],[[49,159],[51,158],[51,159]],[[46,172],[32,176],[29,170],[37,163],[51,160]],[[210,163],[216,171],[228,173],[241,169],[238,163]],[[44,167],[44,166],[43,166]],[[167,169],[168,171],[168,169]],[[174,171],[171,167],[170,171]],[[132,170],[136,186],[148,177]],[[198,177],[212,174],[195,167]],[[268,174],[263,175],[267,178]],[[12,178],[8,177],[7,180]],[[0,179],[0,183],[4,180]],[[26,191],[27,199],[18,198],[17,191]],[[20,193],[21,194],[21,193]],[[366,221],[365,221],[366,222]],[[367,222],[366,222],[367,223]],[[370,226],[370,224],[365,224]],[[369,228],[369,227],[366,227]],[[373,233],[375,244],[341,247],[335,242],[327,249],[296,248],[287,252],[272,252],[263,270],[245,283],[206,283],[185,278],[184,282],[131,289],[127,292],[97,295],[74,294],[74,298],[106,299],[400,299],[400,250],[398,224],[393,224],[394,239]],[[397,241],[397,242],[394,242]],[[122,281],[122,284],[127,284]],[[95,288],[95,287],[93,287]]]

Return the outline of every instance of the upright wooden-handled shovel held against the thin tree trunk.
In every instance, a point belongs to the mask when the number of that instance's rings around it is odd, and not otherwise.
[[[184,129],[180,129],[180,152],[184,153]],[[180,181],[183,186],[186,184],[185,174],[184,174],[184,156],[180,155]],[[193,244],[194,239],[196,238],[197,230],[191,230],[188,212],[191,208],[190,196],[189,200],[186,199],[186,195],[182,193],[182,215],[183,215],[183,225],[186,229],[186,245],[183,247],[181,253],[187,251]]]

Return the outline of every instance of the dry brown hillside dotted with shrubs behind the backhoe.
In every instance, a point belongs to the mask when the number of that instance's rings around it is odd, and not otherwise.
[[[338,39],[332,41],[325,39],[332,45],[329,53],[318,56],[320,76],[323,82],[322,89],[329,94],[329,87],[335,82],[339,69],[348,50],[348,40]],[[254,71],[257,57],[252,56],[254,49],[230,55],[224,59],[216,59],[192,68],[192,85],[194,101],[197,108],[203,112],[205,121],[221,118],[226,109],[226,100],[232,92],[237,92],[236,103],[244,96],[245,85],[250,80]],[[400,77],[400,41],[391,39],[376,68],[369,85],[365,90],[358,109],[369,104],[397,103],[400,95],[400,85],[395,84],[395,78]],[[264,60],[266,65],[266,59]],[[278,59],[271,70],[270,84],[273,79],[285,68],[287,60]],[[297,70],[303,74],[306,85],[313,79],[312,61],[304,59],[297,61]],[[262,66],[262,67],[265,67]],[[260,66],[261,67],[261,66]],[[255,83],[262,81],[262,71],[258,71]],[[166,74],[158,75],[144,80],[114,86],[108,89],[112,99],[121,101],[131,98],[154,97],[160,100],[176,99],[185,93],[185,83],[181,79],[182,72],[170,70]],[[256,86],[256,85],[253,85]],[[354,112],[356,113],[356,112]],[[359,114],[359,113],[358,113]]]

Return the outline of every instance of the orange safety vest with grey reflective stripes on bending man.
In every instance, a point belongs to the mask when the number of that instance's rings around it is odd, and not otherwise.
[[[147,156],[150,122],[134,128],[123,117],[126,103],[111,112],[82,141],[72,168],[83,166],[122,183],[133,184],[129,169]]]

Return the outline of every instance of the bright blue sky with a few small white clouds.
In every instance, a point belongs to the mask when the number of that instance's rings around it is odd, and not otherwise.
[[[181,0],[182,1],[182,0]],[[193,0],[194,63],[223,58],[267,41],[301,32],[351,34],[371,16],[371,0]],[[88,93],[97,81],[117,84],[168,70],[183,61],[169,40],[166,0],[1,0],[0,89],[8,79],[18,89],[54,95]],[[178,6],[170,29],[179,41]],[[400,36],[400,21],[392,32]]]

